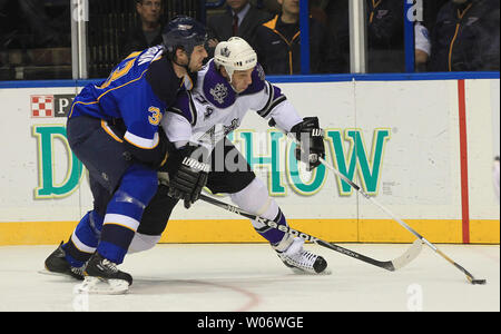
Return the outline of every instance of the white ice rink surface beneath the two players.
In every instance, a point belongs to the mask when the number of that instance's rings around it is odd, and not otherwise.
[[[342,245],[342,244],[340,244]],[[404,244],[345,244],[389,261]],[[0,311],[382,312],[500,311],[500,246],[438,245],[475,278],[424,246],[397,272],[306,245],[331,275],[297,275],[264,244],[164,244],[126,257],[134,276],[126,295],[79,295],[77,281],[39,274],[51,246],[0,247]]]

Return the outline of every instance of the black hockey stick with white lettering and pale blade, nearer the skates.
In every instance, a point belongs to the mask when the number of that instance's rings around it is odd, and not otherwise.
[[[381,261],[367,257],[365,255],[358,254],[356,252],[343,248],[343,247],[337,246],[335,244],[327,243],[327,242],[322,240],[322,239],[320,239],[317,237],[311,236],[311,235],[308,235],[308,234],[306,234],[304,232],[294,229],[294,228],[292,228],[289,226],[277,225],[275,222],[273,222],[271,219],[266,219],[264,217],[249,214],[249,213],[247,213],[247,212],[245,212],[245,210],[243,210],[243,209],[240,209],[240,208],[238,208],[236,206],[233,206],[233,205],[226,204],[224,202],[217,200],[217,199],[215,199],[213,197],[209,197],[209,196],[200,194],[199,195],[199,199],[202,199],[202,200],[204,200],[206,203],[213,204],[215,206],[218,206],[218,207],[220,207],[220,208],[223,208],[223,209],[225,209],[227,212],[235,213],[235,214],[244,216],[246,218],[254,219],[254,220],[257,220],[259,223],[263,223],[263,224],[265,224],[268,227],[276,228],[276,229],[285,232],[285,233],[287,233],[289,235],[301,237],[302,239],[304,239],[306,242],[315,243],[315,244],[317,244],[320,246],[323,246],[323,247],[326,247],[328,249],[332,249],[332,250],[338,252],[341,254],[347,255],[350,257],[363,261],[365,263],[372,264],[374,266],[384,268],[384,269],[390,271],[390,272],[394,272],[394,271],[400,269],[403,266],[407,265],[411,261],[413,261],[420,254],[421,248],[422,248],[422,243],[416,239],[414,242],[414,244],[403,255],[401,255],[400,257],[397,257],[397,258],[395,258],[393,261],[381,262]]]

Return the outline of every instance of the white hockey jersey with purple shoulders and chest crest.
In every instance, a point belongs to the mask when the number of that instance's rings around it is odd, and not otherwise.
[[[210,60],[199,72],[191,91],[178,95],[161,120],[171,143],[187,143],[214,147],[226,135],[238,128],[245,114],[256,111],[265,119],[273,118],[285,131],[301,122],[296,109],[281,89],[266,81],[261,65],[252,73],[253,82],[237,94]]]

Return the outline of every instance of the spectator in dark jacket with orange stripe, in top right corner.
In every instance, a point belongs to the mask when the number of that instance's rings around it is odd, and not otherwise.
[[[451,0],[432,32],[432,71],[499,70],[499,0]]]

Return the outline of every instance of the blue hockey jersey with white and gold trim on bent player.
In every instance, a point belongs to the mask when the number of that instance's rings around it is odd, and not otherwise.
[[[120,119],[124,139],[140,149],[159,143],[161,117],[184,89],[184,78],[174,72],[161,46],[134,52],[97,84],[87,85],[76,97],[68,117],[89,116],[105,121]]]

